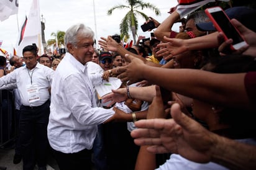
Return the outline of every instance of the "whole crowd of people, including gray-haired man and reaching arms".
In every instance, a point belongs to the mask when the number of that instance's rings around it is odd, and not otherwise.
[[[11,69],[0,56],[0,89],[12,90],[19,115],[14,163],[46,169],[50,153],[61,170],[255,169],[256,10],[225,12],[245,47],[204,27],[204,11],[172,9],[161,23],[150,17],[152,37],[131,47],[108,36],[96,49],[93,30],[75,24],[61,58],[35,44]],[[121,86],[99,96],[111,78]]]

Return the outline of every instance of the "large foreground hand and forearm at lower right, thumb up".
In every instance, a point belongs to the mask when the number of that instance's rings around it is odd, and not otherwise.
[[[178,104],[171,107],[173,119],[135,122],[131,135],[137,145],[150,145],[151,153],[177,153],[198,163],[213,161],[231,169],[255,169],[256,146],[239,143],[209,132],[181,113]]]

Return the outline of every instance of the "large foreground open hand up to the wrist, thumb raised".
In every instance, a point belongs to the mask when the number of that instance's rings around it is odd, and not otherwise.
[[[196,161],[208,163],[216,141],[198,122],[190,119],[180,110],[180,105],[171,106],[173,119],[149,119],[135,122],[131,135],[136,145],[150,145],[152,153],[176,153]]]

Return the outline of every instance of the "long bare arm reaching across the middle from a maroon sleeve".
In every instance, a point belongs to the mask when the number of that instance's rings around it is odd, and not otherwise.
[[[245,90],[246,73],[217,74],[198,69],[156,68],[128,55],[127,60],[131,63],[118,69],[121,74],[117,77],[122,81],[135,83],[146,79],[151,84],[209,104],[254,109]]]

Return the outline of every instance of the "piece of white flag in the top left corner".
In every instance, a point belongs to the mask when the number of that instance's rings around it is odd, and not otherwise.
[[[6,20],[9,16],[17,14],[19,9],[19,0],[1,0],[0,2],[0,20]]]

